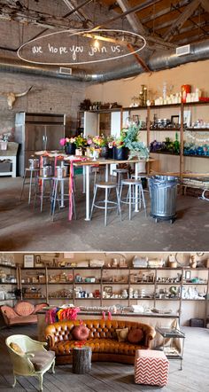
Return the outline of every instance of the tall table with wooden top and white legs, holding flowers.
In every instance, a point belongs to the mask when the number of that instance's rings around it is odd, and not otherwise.
[[[109,168],[110,165],[117,165],[120,163],[134,163],[135,164],[135,178],[137,178],[138,174],[139,174],[139,170],[138,170],[138,163],[139,162],[153,162],[155,161],[152,158],[149,158],[148,160],[124,160],[124,161],[118,161],[118,160],[106,160],[106,159],[97,159],[96,161],[82,161],[82,162],[74,162],[74,166],[78,167],[78,166],[83,166],[85,167],[85,171],[86,171],[86,221],[90,220],[90,166],[93,165],[104,165],[105,166],[105,182],[108,182],[108,178],[109,178]],[[135,212],[138,212],[138,203],[137,203],[137,198],[138,198],[138,190],[137,187],[135,188]]]

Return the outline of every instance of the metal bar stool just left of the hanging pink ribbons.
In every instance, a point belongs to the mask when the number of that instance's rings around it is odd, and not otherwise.
[[[67,184],[67,190],[68,190],[69,177],[63,177],[63,178],[53,177],[53,190],[52,190],[51,200],[50,200],[50,216],[52,218],[52,221],[54,221],[56,202],[58,201],[58,208],[60,209],[65,207],[62,205],[63,201],[69,200],[69,192],[65,193],[64,190],[65,184]],[[74,218],[76,219],[74,191],[72,192],[72,200],[73,200]]]

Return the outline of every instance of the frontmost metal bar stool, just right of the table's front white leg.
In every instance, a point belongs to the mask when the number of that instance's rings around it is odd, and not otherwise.
[[[101,200],[101,201],[97,201],[97,203],[96,203],[95,200],[96,200],[98,189],[104,189],[105,199]],[[115,189],[117,201],[112,201],[112,200],[108,199],[108,193],[111,189]],[[101,204],[103,204],[103,205],[101,205]],[[95,184],[94,197],[93,197],[91,211],[90,211],[90,219],[92,217],[94,207],[104,209],[104,226],[106,226],[106,223],[107,223],[107,210],[108,209],[117,208],[118,213],[120,215],[120,221],[121,221],[120,197],[119,197],[118,185],[115,183],[105,183],[105,182]]]

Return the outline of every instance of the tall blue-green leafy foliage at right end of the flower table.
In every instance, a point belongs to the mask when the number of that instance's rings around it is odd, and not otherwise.
[[[139,140],[139,137],[140,125],[136,125],[135,123],[130,124],[126,130],[126,137],[124,138],[124,145],[126,145],[129,150],[129,160],[133,158],[149,158],[149,149]]]

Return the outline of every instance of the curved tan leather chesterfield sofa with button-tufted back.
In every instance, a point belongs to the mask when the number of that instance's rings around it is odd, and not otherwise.
[[[58,365],[72,363],[72,351],[74,338],[72,335],[75,325],[79,321],[58,321],[48,325],[45,329],[45,337],[49,349],[55,351]],[[124,364],[134,364],[136,349],[151,348],[151,340],[155,336],[155,330],[150,325],[126,320],[83,320],[83,325],[89,328],[89,337],[86,346],[92,349],[92,361],[111,361]],[[118,341],[116,329],[128,328],[129,331],[141,329],[143,339],[138,344],[128,341]]]

